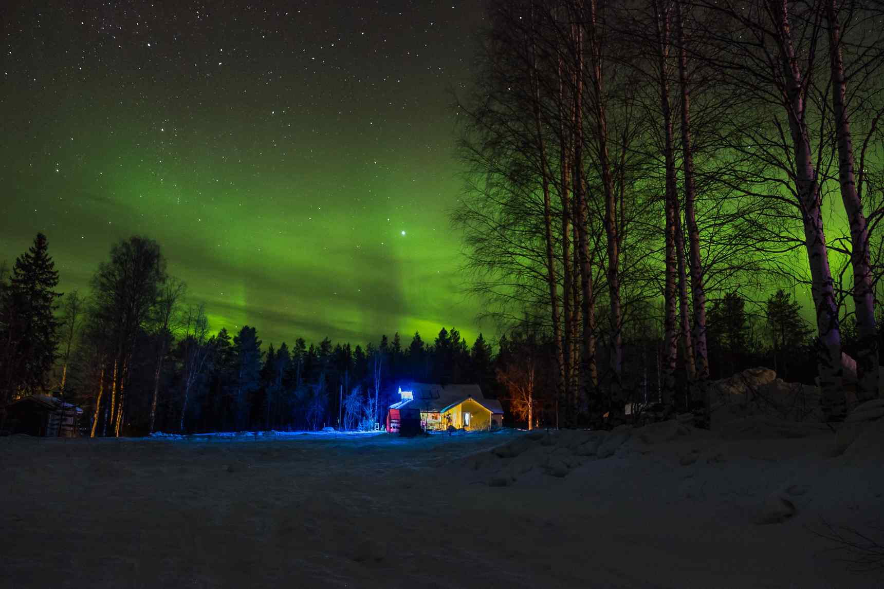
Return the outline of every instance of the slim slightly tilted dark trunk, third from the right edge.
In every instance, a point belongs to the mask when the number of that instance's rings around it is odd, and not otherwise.
[[[701,425],[708,425],[709,399],[706,396],[706,381],[709,380],[709,355],[706,350],[706,293],[703,281],[703,258],[700,253],[700,231],[697,228],[697,214],[694,208],[694,155],[690,128],[690,86],[688,83],[688,57],[684,39],[682,0],[675,4],[678,18],[678,72],[682,90],[682,157],[684,167],[684,220],[688,225],[688,249],[690,252],[690,295],[694,307],[694,364],[695,379],[692,401],[702,401],[704,418]],[[697,398],[699,397],[699,398]]]

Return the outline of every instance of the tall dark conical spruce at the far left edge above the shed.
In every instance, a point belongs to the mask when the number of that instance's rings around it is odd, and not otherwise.
[[[57,355],[56,299],[60,292],[49,242],[37,233],[34,245],[15,261],[8,288],[4,289],[0,336],[3,338],[3,390],[10,399],[21,391],[44,389],[45,377]]]

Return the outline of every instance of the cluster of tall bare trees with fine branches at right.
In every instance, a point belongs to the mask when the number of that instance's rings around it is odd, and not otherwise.
[[[774,283],[810,289],[827,417],[847,409],[845,316],[857,397],[878,395],[880,3],[488,10],[475,92],[458,105],[470,174],[454,222],[490,312],[550,335],[566,424],[636,395],[624,335],[652,324],[663,400],[705,414],[707,299]],[[844,260],[851,279],[835,280]]]

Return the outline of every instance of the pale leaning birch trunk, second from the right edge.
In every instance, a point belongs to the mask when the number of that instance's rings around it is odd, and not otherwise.
[[[794,150],[796,192],[804,224],[804,246],[811,268],[812,295],[819,336],[817,366],[819,388],[822,390],[820,404],[827,419],[840,420],[847,412],[842,391],[841,330],[838,325],[832,272],[828,263],[817,170],[813,166],[810,135],[804,117],[804,81],[792,47],[789,4],[787,0],[769,0],[768,6],[776,26],[774,40],[781,58]]]

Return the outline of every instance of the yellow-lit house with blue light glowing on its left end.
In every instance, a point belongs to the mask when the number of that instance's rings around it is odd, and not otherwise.
[[[398,433],[411,422],[426,431],[448,427],[470,431],[503,427],[503,407],[484,396],[477,384],[425,384],[399,388],[400,401],[390,405],[386,430]]]

